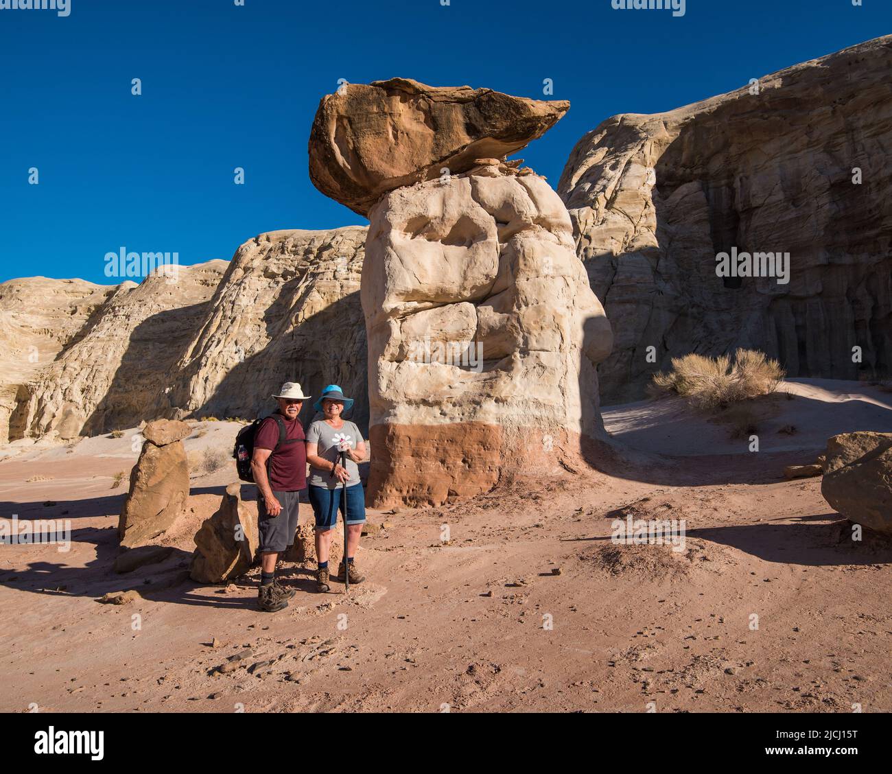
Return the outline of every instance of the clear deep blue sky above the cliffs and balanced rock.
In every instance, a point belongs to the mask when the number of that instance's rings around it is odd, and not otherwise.
[[[0,281],[113,284],[103,256],[121,246],[191,264],[264,231],[364,223],[307,172],[313,115],[338,78],[538,98],[552,78],[551,98],[572,108],[519,155],[557,185],[576,141],[611,115],[670,110],[892,32],[890,0],[687,0],[681,18],[610,0],[70,4],[66,18],[0,10]]]

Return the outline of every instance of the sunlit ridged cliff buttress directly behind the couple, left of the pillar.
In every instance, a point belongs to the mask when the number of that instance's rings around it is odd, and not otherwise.
[[[359,273],[366,232],[362,226],[277,231],[244,243],[153,412],[253,418],[275,408],[269,395],[283,382],[300,382],[315,395],[335,383],[356,399],[350,418],[365,428]],[[310,416],[310,402],[302,419]]]

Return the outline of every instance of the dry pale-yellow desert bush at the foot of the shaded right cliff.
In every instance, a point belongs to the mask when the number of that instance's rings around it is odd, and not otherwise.
[[[655,374],[651,394],[673,392],[698,408],[727,408],[741,400],[775,391],[785,373],[764,352],[737,350],[733,358],[721,355],[685,355],[673,358],[672,370]]]

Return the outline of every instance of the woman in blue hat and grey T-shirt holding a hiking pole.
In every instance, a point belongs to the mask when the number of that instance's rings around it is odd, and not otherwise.
[[[359,546],[359,535],[366,521],[366,495],[359,481],[359,463],[366,457],[366,442],[359,427],[346,422],[341,415],[349,411],[353,399],[344,398],[337,384],[329,384],[313,404],[323,418],[316,419],[307,431],[307,462],[310,463],[310,503],[316,515],[317,589],[329,590],[328,548],[337,523],[338,508],[347,523],[347,571],[351,583],[365,580],[353,558]],[[346,451],[346,467],[339,464],[340,449]],[[343,513],[343,482],[347,482],[347,513]],[[344,559],[335,581],[343,582]]]

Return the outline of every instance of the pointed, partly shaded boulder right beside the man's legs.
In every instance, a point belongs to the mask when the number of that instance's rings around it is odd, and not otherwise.
[[[250,569],[259,547],[257,515],[242,502],[241,490],[241,483],[229,484],[219,510],[195,534],[193,581],[224,583]]]

